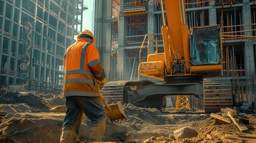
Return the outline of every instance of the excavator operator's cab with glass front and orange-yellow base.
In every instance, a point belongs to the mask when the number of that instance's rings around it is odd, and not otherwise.
[[[191,73],[221,76],[223,48],[220,26],[193,27],[189,33]]]

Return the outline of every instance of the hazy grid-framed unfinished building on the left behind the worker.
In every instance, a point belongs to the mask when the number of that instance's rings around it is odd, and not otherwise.
[[[82,30],[84,0],[0,1],[1,88],[58,91],[63,55]]]

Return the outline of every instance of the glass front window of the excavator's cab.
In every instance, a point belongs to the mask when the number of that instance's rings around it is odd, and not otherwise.
[[[190,47],[192,66],[220,64],[220,28],[217,26],[195,27],[192,29]]]

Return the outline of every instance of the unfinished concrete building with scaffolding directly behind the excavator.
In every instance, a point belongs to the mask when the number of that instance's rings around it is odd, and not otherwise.
[[[189,28],[220,24],[223,73],[232,80],[238,101],[256,100],[255,4],[252,0],[185,0]],[[139,51],[147,33],[158,40],[158,46],[163,46],[161,1],[95,1],[94,21],[95,44],[107,80],[145,79],[138,75]]]

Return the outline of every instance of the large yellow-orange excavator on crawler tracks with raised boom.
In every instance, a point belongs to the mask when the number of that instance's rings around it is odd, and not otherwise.
[[[220,26],[192,27],[189,30],[182,0],[165,1],[166,24],[162,0],[161,5],[164,52],[159,52],[158,42],[147,34],[140,49],[138,74],[165,83],[156,84],[149,80],[110,82],[105,85],[103,95],[122,92],[123,103],[140,107],[161,108],[163,97],[168,95],[195,95],[203,99],[205,113],[232,107],[230,78],[222,77]],[[141,52],[146,48],[144,43],[149,43],[146,39],[155,42],[155,47],[147,46],[147,61],[142,61]],[[155,53],[150,54],[150,48],[155,48]]]

